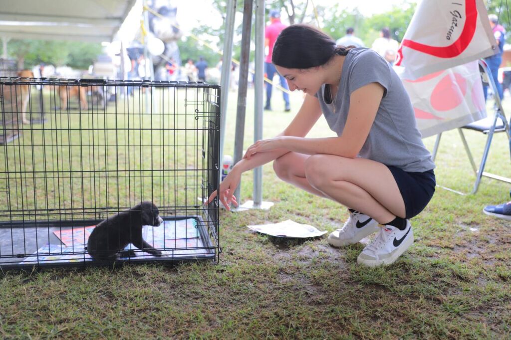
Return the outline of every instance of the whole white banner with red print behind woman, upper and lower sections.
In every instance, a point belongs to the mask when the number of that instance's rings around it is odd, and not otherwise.
[[[424,0],[417,6],[394,68],[423,137],[486,116],[477,59],[495,54],[495,47],[482,0]]]

